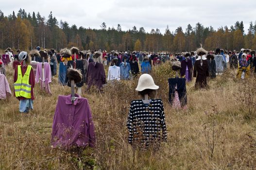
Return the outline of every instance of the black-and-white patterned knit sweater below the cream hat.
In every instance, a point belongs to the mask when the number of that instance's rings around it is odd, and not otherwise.
[[[142,100],[131,102],[127,119],[130,144],[146,147],[155,141],[167,140],[164,106],[161,99],[152,99],[149,105]]]

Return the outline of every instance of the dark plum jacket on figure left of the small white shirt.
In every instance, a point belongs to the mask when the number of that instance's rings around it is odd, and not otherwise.
[[[88,70],[86,72],[86,83],[88,85],[88,89],[92,85],[96,85],[101,89],[102,85],[106,84],[106,74],[101,63],[89,63]]]

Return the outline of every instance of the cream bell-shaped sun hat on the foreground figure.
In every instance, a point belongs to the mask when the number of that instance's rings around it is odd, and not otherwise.
[[[138,85],[136,90],[143,91],[145,89],[156,90],[159,86],[154,84],[154,80],[149,74],[142,74],[138,79]]]

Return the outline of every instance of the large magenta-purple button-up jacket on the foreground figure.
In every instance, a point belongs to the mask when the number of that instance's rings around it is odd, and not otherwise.
[[[53,147],[95,146],[94,125],[88,100],[75,94],[72,104],[71,95],[59,96],[53,123],[51,144]]]

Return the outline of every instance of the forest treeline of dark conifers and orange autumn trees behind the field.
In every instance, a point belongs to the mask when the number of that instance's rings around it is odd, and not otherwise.
[[[81,50],[119,50],[119,51],[192,51],[200,47],[206,50],[223,48],[240,50],[241,48],[256,49],[256,22],[250,22],[248,33],[245,34],[243,21],[237,21],[230,28],[227,26],[214,30],[196,23],[190,24],[186,30],[178,27],[171,32],[167,26],[165,33],[152,29],[150,33],[144,28],[134,26],[132,30],[123,31],[120,24],[110,28],[103,22],[101,29],[90,29],[76,25],[69,26],[67,21],[58,22],[52,12],[46,19],[39,12],[32,14],[20,9],[9,16],[0,10],[0,48],[31,50],[36,46],[60,50],[76,46]]]

